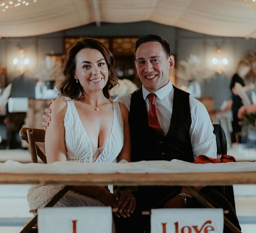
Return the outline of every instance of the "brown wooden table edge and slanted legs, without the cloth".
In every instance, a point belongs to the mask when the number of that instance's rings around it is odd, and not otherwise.
[[[195,185],[232,185],[256,184],[256,172],[209,172],[209,173],[112,173],[112,174],[27,174],[0,173],[0,184],[64,184],[46,207],[53,206],[71,188],[71,185],[122,185],[122,186],[184,186],[204,206],[214,208],[200,193],[195,191]],[[27,233],[37,222],[35,216],[21,231]],[[241,233],[226,217],[225,224],[233,232]]]

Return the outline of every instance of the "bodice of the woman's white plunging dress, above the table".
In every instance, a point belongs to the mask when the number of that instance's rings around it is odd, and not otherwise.
[[[64,118],[67,161],[92,162],[93,149],[74,102],[67,100]],[[113,162],[123,147],[123,120],[118,102],[113,102],[113,123],[109,138],[95,163]],[[82,139],[82,140],[81,140]]]

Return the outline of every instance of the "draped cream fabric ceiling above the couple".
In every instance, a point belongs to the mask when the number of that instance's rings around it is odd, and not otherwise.
[[[95,21],[147,20],[216,36],[256,38],[252,0],[30,0],[28,6],[0,11],[0,37],[52,33]]]

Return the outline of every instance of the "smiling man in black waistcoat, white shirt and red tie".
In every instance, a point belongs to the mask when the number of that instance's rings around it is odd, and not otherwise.
[[[132,161],[180,159],[193,162],[201,154],[216,158],[213,126],[204,105],[174,87],[169,80],[169,71],[174,68],[169,43],[157,35],[140,36],[135,45],[135,59],[137,74],[143,85],[133,94],[116,99],[130,112]],[[43,118],[50,120],[47,115]],[[43,123],[45,126],[47,124]],[[142,210],[155,206],[186,207],[192,195],[184,188],[180,188],[164,203],[159,203],[173,190],[174,187],[170,186],[140,187],[135,193],[137,207],[134,214],[129,220],[121,220],[121,224],[117,221],[117,231],[144,232],[145,227],[149,228],[147,217],[140,214]],[[222,198],[208,187],[204,190],[207,195],[213,194],[217,202]],[[229,208],[231,205],[226,201],[224,206]],[[200,203],[194,200],[194,207],[200,207]],[[231,221],[239,227],[235,213],[232,218]]]

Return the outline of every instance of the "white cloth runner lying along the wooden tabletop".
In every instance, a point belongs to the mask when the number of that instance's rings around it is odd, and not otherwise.
[[[79,163],[59,161],[51,164],[26,163],[7,160],[0,163],[0,173],[197,173],[197,172],[249,172],[256,171],[256,162],[228,162],[194,164],[172,161],[140,161],[130,163]]]

